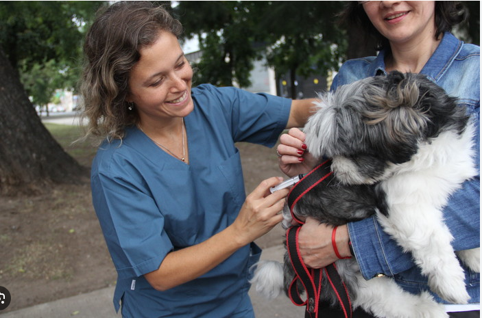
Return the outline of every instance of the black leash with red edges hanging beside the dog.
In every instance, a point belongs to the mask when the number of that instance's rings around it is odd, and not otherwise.
[[[306,174],[306,176],[296,183],[289,192],[287,199],[289,211],[291,212],[293,220],[296,220],[298,224],[302,225],[304,222],[296,217],[293,213],[293,208],[300,198],[313,189],[313,187],[320,183],[328,184],[331,180],[328,176],[333,174],[330,170],[330,166],[331,161],[324,161],[324,163],[321,163],[315,169],[311,170],[309,174]],[[318,317],[322,279],[325,276],[330,287],[337,295],[339,304],[341,305],[341,311],[344,314],[342,317],[351,318],[352,304],[350,302],[350,296],[348,295],[348,289],[346,289],[345,283],[341,280],[335,263],[322,269],[311,269],[304,265],[303,260],[300,257],[300,248],[298,246],[298,233],[300,232],[300,229],[301,226],[291,226],[286,233],[287,251],[296,273],[288,291],[291,302],[296,306],[306,305],[305,317]],[[300,291],[298,291],[298,280],[302,283],[304,290],[306,291],[306,300],[304,301],[300,297]]]

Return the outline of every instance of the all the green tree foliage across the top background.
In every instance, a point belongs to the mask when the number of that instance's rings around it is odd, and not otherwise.
[[[169,3],[169,1],[158,1]],[[34,103],[56,89],[75,88],[82,40],[107,1],[0,1],[0,49],[21,75]],[[479,44],[479,1],[462,33]],[[250,85],[254,59],[265,57],[278,75],[308,77],[336,70],[346,57],[346,31],[336,16],[344,1],[180,1],[173,13],[186,38],[197,37],[203,58],[195,83]]]

